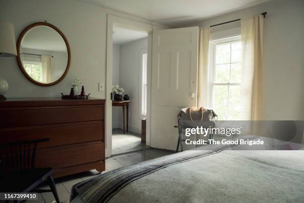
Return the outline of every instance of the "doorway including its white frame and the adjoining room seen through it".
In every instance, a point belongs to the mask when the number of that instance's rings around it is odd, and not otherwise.
[[[150,145],[152,28],[153,26],[150,24],[108,15],[106,157],[110,157],[112,154],[142,149]],[[146,64],[144,72],[143,64]],[[143,74],[146,74],[145,77],[143,77]],[[112,85],[118,85],[113,90],[120,90],[120,93],[122,93],[122,90],[118,88],[124,89],[122,97],[125,94],[129,96],[129,99],[126,99],[129,101],[129,106],[126,103],[116,105],[114,97],[113,101],[111,100]],[[143,92],[143,90],[145,91]],[[146,99],[146,102],[143,102],[143,98]],[[122,99],[120,102],[123,103],[125,101]],[[142,105],[142,103],[145,105]],[[123,119],[124,117],[125,119]],[[141,139],[141,122],[143,118],[147,119],[146,144],[142,143]]]

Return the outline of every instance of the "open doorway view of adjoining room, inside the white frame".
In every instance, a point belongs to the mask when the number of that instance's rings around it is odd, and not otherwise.
[[[147,56],[148,32],[113,26],[112,155],[146,148]]]

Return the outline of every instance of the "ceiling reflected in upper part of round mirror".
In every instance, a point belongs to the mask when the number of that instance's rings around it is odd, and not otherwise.
[[[67,51],[66,43],[61,35],[48,26],[37,26],[30,29],[24,35],[21,47],[44,51]]]

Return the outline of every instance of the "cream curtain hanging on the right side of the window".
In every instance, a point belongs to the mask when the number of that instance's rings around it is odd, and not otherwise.
[[[263,15],[241,19],[241,119],[262,120]]]

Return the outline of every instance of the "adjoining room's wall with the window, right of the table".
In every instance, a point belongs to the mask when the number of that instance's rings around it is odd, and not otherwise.
[[[142,121],[140,117],[140,51],[147,49],[148,38],[140,39],[120,46],[119,85],[128,94],[129,131],[141,133]],[[119,125],[122,128],[122,115],[119,114]]]

